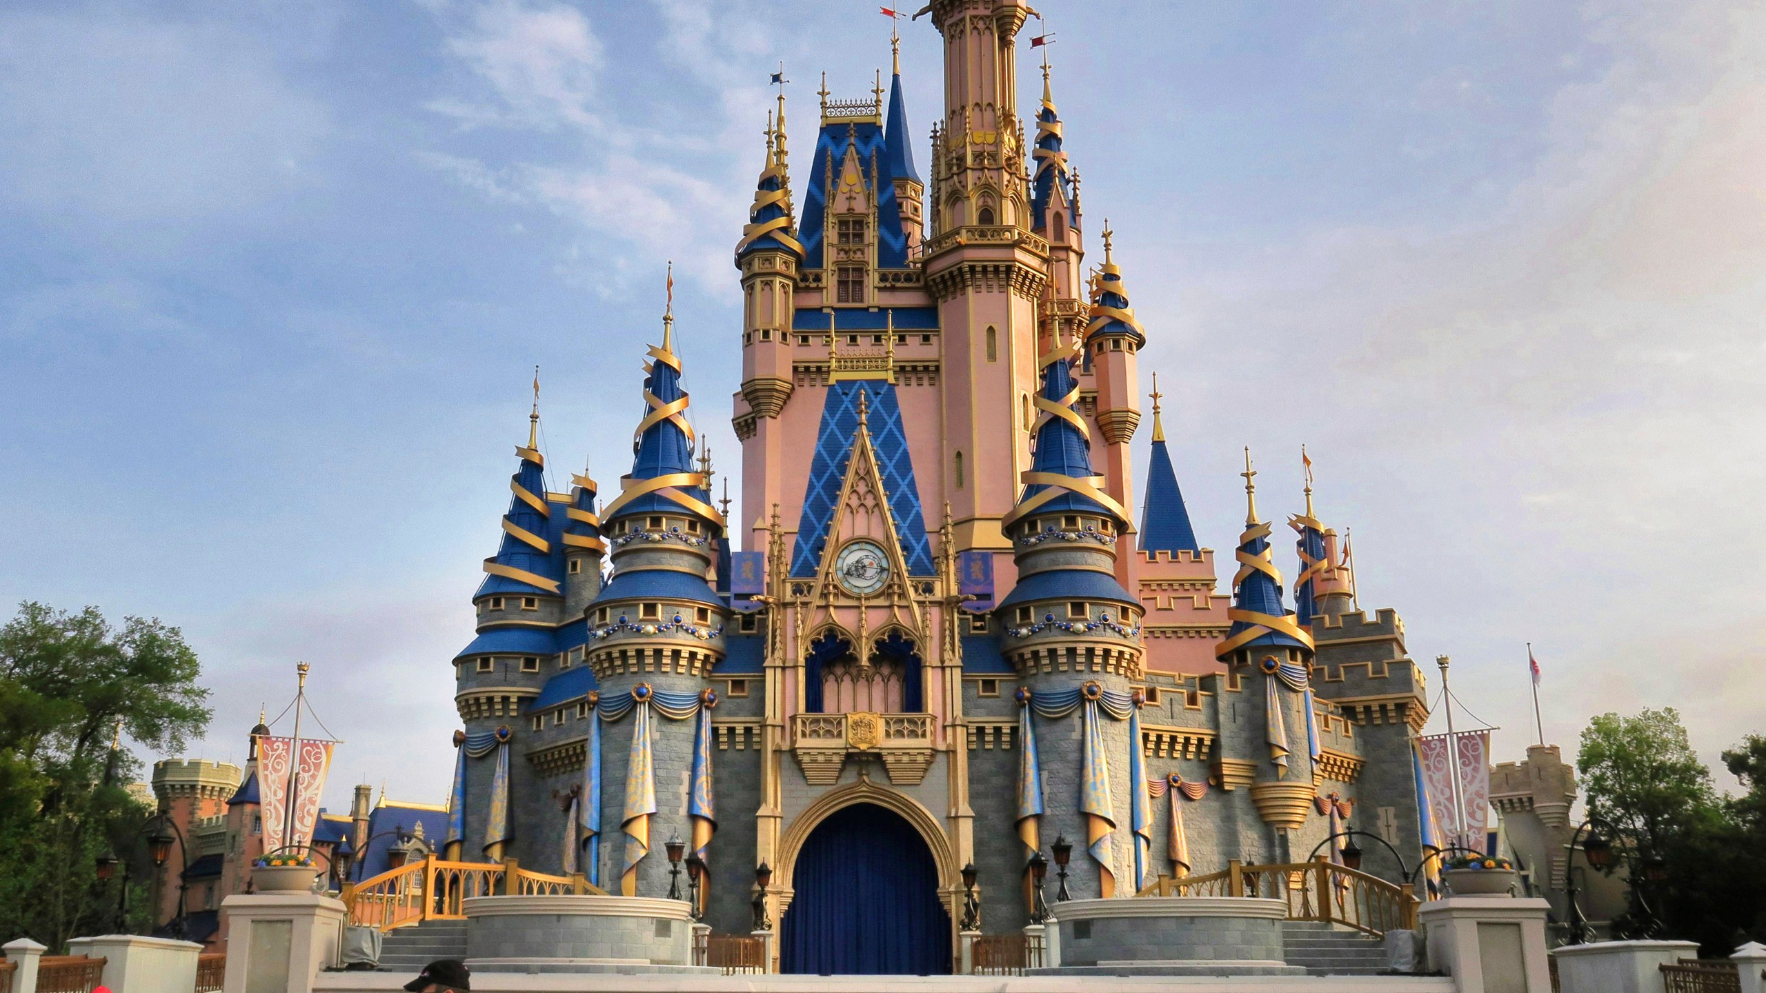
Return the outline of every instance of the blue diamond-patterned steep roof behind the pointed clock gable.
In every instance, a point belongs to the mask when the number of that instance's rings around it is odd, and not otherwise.
[[[908,454],[908,435],[901,426],[901,405],[895,401],[895,383],[885,380],[848,380],[828,387],[821,406],[821,429],[816,433],[816,454],[809,463],[809,488],[804,493],[804,518],[796,527],[796,548],[791,553],[793,576],[814,576],[821,565],[821,550],[828,542],[834,521],[834,502],[841,498],[846,482],[846,463],[853,454],[853,435],[858,431],[858,394],[869,398],[865,424],[871,447],[883,470],[883,488],[888,509],[895,518],[897,539],[908,572],[931,576],[932,546],[925,537],[925,512],[920,509],[920,486],[913,479],[913,458]]]

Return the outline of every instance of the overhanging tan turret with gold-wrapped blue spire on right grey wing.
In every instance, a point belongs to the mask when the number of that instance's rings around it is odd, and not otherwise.
[[[1270,557],[1270,523],[1257,519],[1257,472],[1245,449],[1245,532],[1238,537],[1238,574],[1233,576],[1231,631],[1215,648],[1243,693],[1252,735],[1241,754],[1217,756],[1222,776],[1252,772],[1250,797],[1257,815],[1279,832],[1277,853],[1286,836],[1302,827],[1314,795],[1310,747],[1312,634],[1282,604],[1282,574]]]

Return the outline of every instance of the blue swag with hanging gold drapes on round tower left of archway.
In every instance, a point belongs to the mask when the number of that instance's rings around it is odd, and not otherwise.
[[[650,853],[650,818],[657,813],[655,753],[650,742],[652,712],[669,721],[699,717],[694,728],[692,776],[687,783],[687,816],[692,818],[694,853],[705,859],[705,848],[717,830],[712,792],[712,707],[717,707],[717,691],[713,689],[673,693],[652,689],[650,684],[643,682],[634,686],[630,693],[600,698],[602,721],[618,721],[625,714],[634,714],[632,747],[625,769],[625,809],[620,815],[620,829],[625,832],[625,869],[620,873],[623,896],[638,896],[638,864]],[[597,763],[599,751],[597,747],[592,756]],[[599,779],[599,770],[595,776]]]

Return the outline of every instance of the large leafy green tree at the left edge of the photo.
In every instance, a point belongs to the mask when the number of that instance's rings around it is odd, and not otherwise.
[[[117,735],[180,751],[210,719],[201,664],[177,627],[97,608],[19,604],[0,627],[0,935],[60,949],[118,926],[120,880],[95,864],[115,853],[136,878],[145,921],[140,832],[152,809],[124,788],[141,762]]]

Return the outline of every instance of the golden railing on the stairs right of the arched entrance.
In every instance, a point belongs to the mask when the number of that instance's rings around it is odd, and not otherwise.
[[[1287,903],[1289,921],[1344,924],[1369,935],[1416,929],[1416,892],[1411,883],[1390,883],[1379,876],[1319,859],[1245,866],[1236,859],[1220,873],[1206,876],[1158,876],[1136,896],[1259,896]]]

